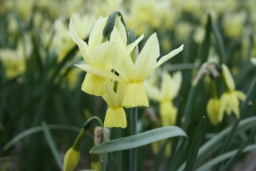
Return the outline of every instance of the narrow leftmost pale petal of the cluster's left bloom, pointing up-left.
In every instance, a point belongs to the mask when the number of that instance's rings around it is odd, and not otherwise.
[[[90,64],[90,50],[87,46],[86,42],[84,42],[81,38],[78,37],[77,32],[74,29],[74,25],[72,19],[70,19],[70,35],[72,40],[78,45],[79,50],[81,51],[82,57],[85,62]]]

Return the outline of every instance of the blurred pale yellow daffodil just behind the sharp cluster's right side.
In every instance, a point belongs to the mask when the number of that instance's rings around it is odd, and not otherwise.
[[[160,116],[162,126],[175,125],[178,109],[173,100],[177,96],[182,83],[182,73],[177,72],[172,77],[168,73],[162,74],[160,89],[156,85],[145,82],[149,97],[160,102]]]

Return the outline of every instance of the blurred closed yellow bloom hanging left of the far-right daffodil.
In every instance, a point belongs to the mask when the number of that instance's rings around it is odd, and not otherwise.
[[[219,105],[220,105],[220,101],[218,100],[218,98],[210,98],[210,100],[207,103],[206,111],[210,119],[210,123],[212,125],[217,125],[219,121],[218,114],[223,114],[223,113],[219,113]]]

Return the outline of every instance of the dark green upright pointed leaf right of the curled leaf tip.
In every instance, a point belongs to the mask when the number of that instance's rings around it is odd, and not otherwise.
[[[206,121],[206,117],[202,117],[201,121],[199,122],[198,129],[196,130],[196,132],[194,134],[192,145],[190,146],[190,151],[186,157],[186,166],[184,169],[185,171],[194,169],[194,163],[198,156],[198,149],[199,149],[201,141],[202,141],[202,135],[203,135],[205,121]]]

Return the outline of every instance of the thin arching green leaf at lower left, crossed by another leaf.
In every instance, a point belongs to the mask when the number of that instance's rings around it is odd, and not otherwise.
[[[48,125],[48,129],[58,129],[58,130],[66,130],[66,131],[72,131],[75,133],[80,132],[80,128],[75,127],[75,126],[70,126],[70,125]],[[42,126],[36,126],[31,129],[27,129],[26,131],[23,131],[22,133],[19,133],[16,135],[13,139],[11,139],[6,145],[4,145],[3,149],[7,150],[9,149],[12,145],[14,145],[16,142],[20,141],[22,138],[27,137],[33,133],[38,133],[42,131]]]

